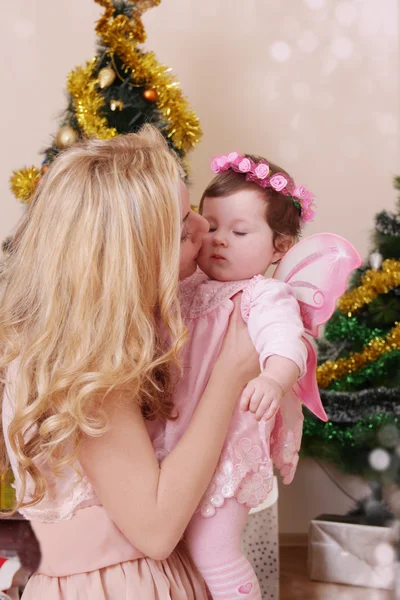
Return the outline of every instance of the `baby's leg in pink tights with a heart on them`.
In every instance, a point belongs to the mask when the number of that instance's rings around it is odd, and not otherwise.
[[[213,600],[261,600],[256,574],[240,549],[248,512],[229,498],[213,517],[196,513],[186,530],[190,554]]]

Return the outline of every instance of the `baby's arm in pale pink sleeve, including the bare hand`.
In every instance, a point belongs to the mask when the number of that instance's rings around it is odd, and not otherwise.
[[[304,327],[292,288],[281,281],[258,281],[252,290],[247,324],[260,355],[261,375],[246,386],[240,407],[253,412],[257,420],[268,420],[306,366]]]

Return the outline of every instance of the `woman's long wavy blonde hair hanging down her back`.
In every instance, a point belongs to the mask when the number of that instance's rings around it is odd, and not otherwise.
[[[16,509],[40,502],[74,465],[83,435],[107,428],[111,390],[146,418],[171,416],[171,379],[185,340],[178,299],[181,169],[162,135],[86,140],[40,182],[0,273],[0,401],[22,480]],[[168,339],[168,343],[166,342]],[[0,459],[7,467],[4,435]],[[26,477],[34,482],[23,501]]]

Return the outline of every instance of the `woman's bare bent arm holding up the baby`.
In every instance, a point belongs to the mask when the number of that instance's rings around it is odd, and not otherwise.
[[[163,559],[180,540],[215,470],[237,398],[257,372],[258,357],[236,304],[202,399],[161,465],[139,407],[109,397],[110,429],[85,439],[80,461],[111,519],[144,554]]]

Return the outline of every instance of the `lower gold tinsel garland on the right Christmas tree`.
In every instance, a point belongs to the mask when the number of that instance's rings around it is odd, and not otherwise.
[[[328,360],[317,368],[317,381],[320,388],[327,388],[336,379],[355,373],[383,354],[400,348],[400,323],[385,337],[376,337],[366,344],[361,352],[353,352],[348,358]]]

